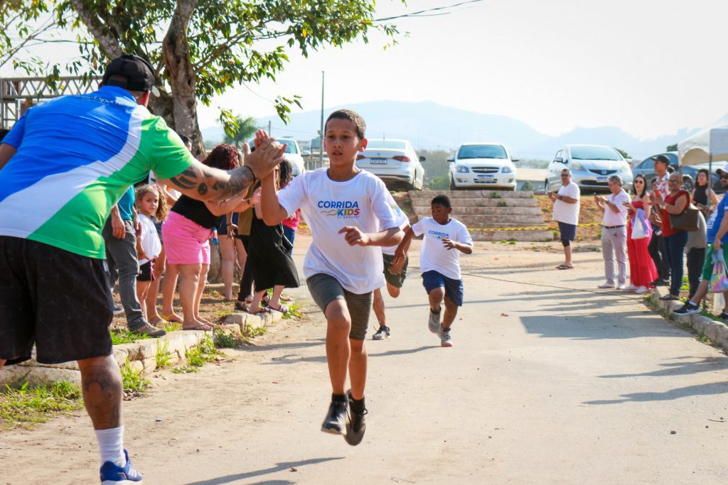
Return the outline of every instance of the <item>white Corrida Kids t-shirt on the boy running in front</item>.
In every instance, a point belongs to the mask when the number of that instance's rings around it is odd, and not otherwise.
[[[278,193],[278,202],[288,215],[298,207],[309,224],[313,241],[306,252],[304,276],[333,276],[344,289],[355,294],[384,286],[381,249],[349,246],[341,228],[353,225],[365,233],[376,233],[401,225],[406,217],[371,172],[361,171],[351,180],[336,182],[326,168],[294,178]],[[381,228],[381,229],[380,229]]]

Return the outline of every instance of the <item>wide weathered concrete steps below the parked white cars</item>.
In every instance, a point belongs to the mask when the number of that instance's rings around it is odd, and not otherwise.
[[[531,192],[411,191],[410,201],[418,220],[430,216],[430,201],[439,194],[450,198],[453,217],[467,226],[473,241],[553,240],[553,232],[544,229],[550,223],[545,222]]]

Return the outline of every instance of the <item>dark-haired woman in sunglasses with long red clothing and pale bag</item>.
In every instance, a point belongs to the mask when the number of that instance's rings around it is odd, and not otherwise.
[[[643,294],[649,291],[650,284],[657,279],[657,268],[647,248],[650,237],[652,236],[652,226],[646,223],[645,237],[632,239],[633,225],[639,221],[636,219],[637,211],[639,209],[644,211],[644,220],[649,220],[650,212],[652,212],[652,202],[649,200],[647,181],[644,175],[638,174],[635,176],[633,189],[635,195],[632,202],[625,202],[625,207],[627,207],[629,212],[627,222],[627,255],[630,260],[630,284],[624,291]]]

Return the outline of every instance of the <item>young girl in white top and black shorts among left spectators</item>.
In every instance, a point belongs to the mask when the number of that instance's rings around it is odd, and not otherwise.
[[[141,223],[141,236],[137,238],[137,255],[139,260],[139,276],[137,276],[137,298],[141,303],[141,310],[147,321],[161,321],[159,315],[149,315],[146,307],[146,297],[154,276],[154,261],[162,252],[162,242],[157,234],[157,221],[167,218],[167,201],[159,188],[154,185],[141,185],[136,190],[136,209]],[[155,295],[156,296],[156,295]],[[155,310],[156,308],[151,308]]]

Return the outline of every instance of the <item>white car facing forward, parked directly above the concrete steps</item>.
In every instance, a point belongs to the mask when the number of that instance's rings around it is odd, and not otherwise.
[[[462,188],[503,188],[515,191],[515,165],[500,143],[463,143],[450,164],[450,190]]]

